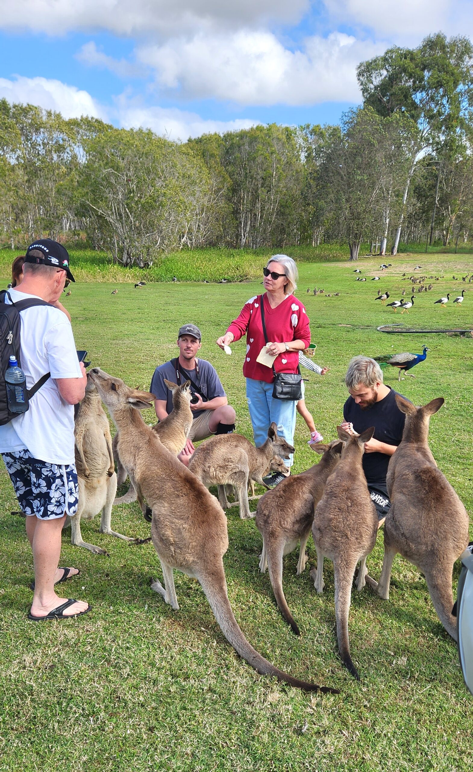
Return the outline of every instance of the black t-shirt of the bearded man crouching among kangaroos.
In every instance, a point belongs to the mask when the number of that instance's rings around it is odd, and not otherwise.
[[[349,397],[343,405],[343,418],[353,424],[355,432],[361,434],[365,429],[374,426],[373,437],[387,445],[399,445],[404,431],[406,416],[397,407],[394,389],[379,402],[375,402],[367,410],[356,405],[353,397]],[[402,395],[401,395],[402,396]],[[405,398],[404,398],[405,399]],[[387,465],[390,455],[386,453],[363,453],[363,472],[367,482],[382,482],[386,485]]]

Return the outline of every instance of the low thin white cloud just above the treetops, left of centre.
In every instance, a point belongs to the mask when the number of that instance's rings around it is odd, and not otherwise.
[[[188,137],[200,137],[201,134],[223,134],[225,131],[248,129],[260,124],[259,120],[239,118],[237,120],[211,120],[202,118],[197,113],[178,110],[177,107],[143,107],[118,101],[118,121],[125,129],[143,127],[155,134],[172,141],[185,142]]]

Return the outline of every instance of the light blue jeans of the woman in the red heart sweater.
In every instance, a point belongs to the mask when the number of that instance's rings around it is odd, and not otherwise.
[[[269,424],[272,421],[278,427],[278,434],[294,445],[296,402],[291,399],[274,399],[272,387],[273,384],[268,384],[266,381],[246,379],[246,399],[257,448],[266,442]],[[292,466],[293,463],[294,457],[291,455],[290,460],[285,461],[285,465]]]

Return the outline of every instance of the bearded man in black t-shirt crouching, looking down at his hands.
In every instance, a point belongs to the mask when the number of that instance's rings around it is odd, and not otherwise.
[[[350,397],[343,405],[342,428],[350,434],[361,434],[374,426],[373,437],[365,442],[363,472],[382,523],[391,506],[386,486],[387,466],[402,439],[406,416],[397,407],[397,392],[383,384],[383,372],[370,357],[353,357],[345,383]]]

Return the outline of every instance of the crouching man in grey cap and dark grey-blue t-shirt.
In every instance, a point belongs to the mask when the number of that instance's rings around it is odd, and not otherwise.
[[[193,440],[198,442],[211,435],[230,434],[235,428],[235,410],[228,405],[215,367],[196,356],[201,345],[201,330],[195,324],[184,324],[177,333],[179,356],[156,368],[150,386],[151,394],[156,397],[154,409],[158,421],[163,421],[173,409],[172,393],[164,378],[177,385],[191,381],[194,419],[188,441],[177,456],[185,466],[188,466],[195,450]]]

